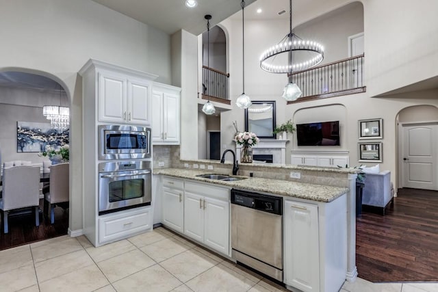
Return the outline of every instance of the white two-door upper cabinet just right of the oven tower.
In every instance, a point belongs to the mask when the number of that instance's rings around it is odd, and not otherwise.
[[[181,88],[153,83],[152,137],[155,145],[179,144]]]

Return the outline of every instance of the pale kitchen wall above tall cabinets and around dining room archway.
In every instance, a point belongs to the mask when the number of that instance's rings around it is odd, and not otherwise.
[[[70,98],[70,230],[80,230],[82,85],[77,71],[94,58],[170,83],[170,36],[89,0],[1,0],[0,6],[0,70],[40,72],[62,84]]]

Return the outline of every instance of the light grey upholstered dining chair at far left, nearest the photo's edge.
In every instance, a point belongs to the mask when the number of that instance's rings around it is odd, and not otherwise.
[[[10,211],[34,207],[35,225],[40,226],[40,168],[20,165],[3,169],[3,194],[0,199],[0,211],[4,233],[8,233]]]

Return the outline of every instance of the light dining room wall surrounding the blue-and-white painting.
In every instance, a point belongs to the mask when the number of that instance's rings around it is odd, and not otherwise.
[[[62,105],[66,105],[65,96]],[[2,161],[27,160],[42,163],[47,157],[39,157],[37,152],[17,152],[16,122],[50,121],[42,115],[44,105],[59,105],[60,95],[53,92],[40,92],[18,88],[0,87],[0,150]]]

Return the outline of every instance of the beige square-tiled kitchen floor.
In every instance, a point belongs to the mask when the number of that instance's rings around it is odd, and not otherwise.
[[[57,237],[0,252],[0,291],[287,291],[164,228],[94,248]],[[433,292],[438,283],[373,284],[342,292]]]

